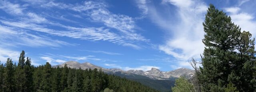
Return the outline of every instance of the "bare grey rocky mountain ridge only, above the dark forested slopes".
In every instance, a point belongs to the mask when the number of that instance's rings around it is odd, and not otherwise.
[[[142,75],[145,77],[148,77],[150,79],[155,79],[155,80],[167,80],[167,79],[172,79],[174,77],[178,78],[178,77],[186,77],[186,78],[191,78],[194,75],[194,71],[191,69],[187,69],[187,68],[180,68],[180,69],[176,69],[173,71],[161,71],[159,69],[156,68],[152,68],[149,71],[142,71],[142,70],[128,70],[128,71],[124,71],[122,69],[116,69],[116,68],[112,68],[112,69],[106,69],[103,67],[99,67],[96,65],[93,65],[91,63],[85,62],[85,63],[79,63],[76,61],[68,61],[65,63],[62,63],[60,65],[56,65],[53,67],[64,67],[64,65],[67,64],[68,67],[70,68],[80,68],[81,69],[102,69],[102,71],[106,72],[106,73],[122,73],[125,75],[130,75],[130,74],[135,74],[135,75]]]

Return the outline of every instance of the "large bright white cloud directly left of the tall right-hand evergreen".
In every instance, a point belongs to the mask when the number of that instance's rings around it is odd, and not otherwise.
[[[207,6],[203,2],[191,0],[183,2],[182,0],[168,0],[165,2],[177,7],[178,14],[175,17],[178,18],[178,21],[170,22],[172,20],[160,18],[161,13],[156,9],[150,11],[152,20],[158,20],[153,22],[172,34],[170,38],[167,38],[166,44],[159,46],[159,50],[182,61],[192,57],[199,58],[204,50],[202,22]]]

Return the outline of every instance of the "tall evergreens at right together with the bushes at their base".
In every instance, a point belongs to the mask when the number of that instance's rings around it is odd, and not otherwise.
[[[256,58],[252,34],[241,31],[213,4],[205,15],[204,53],[192,59],[194,78],[176,80],[173,92],[256,92]],[[202,67],[198,67],[198,63]]]

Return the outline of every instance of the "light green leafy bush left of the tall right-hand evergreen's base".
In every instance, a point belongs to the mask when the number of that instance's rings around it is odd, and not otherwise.
[[[184,77],[177,79],[174,85],[172,92],[196,92],[193,84]]]

